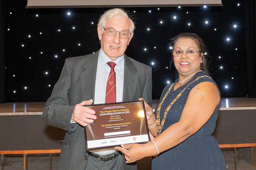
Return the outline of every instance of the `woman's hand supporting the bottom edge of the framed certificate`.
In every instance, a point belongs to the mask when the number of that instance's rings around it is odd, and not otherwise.
[[[145,152],[145,144],[122,144],[121,146],[116,146],[115,149],[124,153],[126,163],[132,163],[149,156]]]

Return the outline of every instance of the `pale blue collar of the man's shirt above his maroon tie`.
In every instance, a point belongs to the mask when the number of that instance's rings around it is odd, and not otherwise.
[[[100,62],[100,66],[103,66],[103,65],[107,64],[108,62],[114,62],[120,69],[123,69],[124,68],[124,54],[122,56],[118,57],[115,61],[113,61],[110,58],[108,58],[108,56],[102,51],[102,49],[100,49],[99,62]]]

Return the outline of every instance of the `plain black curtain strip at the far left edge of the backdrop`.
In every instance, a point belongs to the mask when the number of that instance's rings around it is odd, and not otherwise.
[[[5,0],[0,0],[0,103],[5,103]]]

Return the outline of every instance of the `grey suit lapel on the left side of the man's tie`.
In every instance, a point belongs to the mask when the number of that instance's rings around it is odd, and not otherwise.
[[[94,90],[99,51],[89,56],[83,64],[83,71],[80,74],[80,79],[84,100],[94,100]]]

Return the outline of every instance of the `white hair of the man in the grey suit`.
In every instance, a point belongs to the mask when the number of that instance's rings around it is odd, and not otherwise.
[[[129,32],[132,33],[135,29],[134,23],[132,21],[132,19],[128,16],[127,12],[125,12],[123,9],[120,8],[114,8],[114,9],[110,9],[108,11],[106,11],[104,14],[102,14],[100,16],[99,22],[98,22],[98,26],[101,28],[101,33],[103,33],[103,30],[107,24],[107,20],[109,18],[113,18],[115,15],[122,15],[125,18],[128,18],[130,21],[130,28],[129,28]]]

